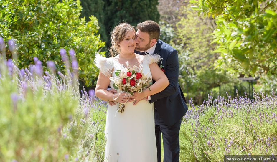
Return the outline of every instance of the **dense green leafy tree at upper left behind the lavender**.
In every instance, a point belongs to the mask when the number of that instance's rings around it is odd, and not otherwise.
[[[53,60],[57,70],[64,71],[59,49],[74,49],[80,79],[86,85],[94,84],[98,75],[94,55],[105,43],[96,34],[99,27],[94,16],[88,22],[79,19],[81,9],[79,0],[0,1],[0,36],[17,43],[19,68],[38,57],[44,67],[47,60]],[[9,58],[11,52],[6,49]]]

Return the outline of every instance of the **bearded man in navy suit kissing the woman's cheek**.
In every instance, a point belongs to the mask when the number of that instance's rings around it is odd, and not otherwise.
[[[179,131],[182,117],[188,108],[178,83],[178,52],[169,44],[161,41],[160,27],[154,21],[145,21],[137,25],[136,53],[159,54],[163,59],[159,66],[166,74],[170,84],[165,90],[150,96],[149,102],[155,102],[155,131],[158,162],[161,161],[161,134],[164,143],[164,161],[179,161]]]

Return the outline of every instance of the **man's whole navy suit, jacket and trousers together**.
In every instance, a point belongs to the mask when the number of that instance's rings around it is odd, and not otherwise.
[[[138,54],[140,52],[135,51]],[[155,107],[155,130],[158,162],[161,161],[161,134],[164,144],[164,162],[179,161],[179,131],[182,117],[188,108],[184,94],[179,86],[178,52],[169,44],[158,40],[154,54],[163,59],[159,66],[164,66],[169,85],[163,91],[151,95],[150,102]]]

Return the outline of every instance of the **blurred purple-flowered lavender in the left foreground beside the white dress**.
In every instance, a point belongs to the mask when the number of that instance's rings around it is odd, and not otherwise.
[[[92,91],[80,97],[75,52],[69,52],[70,67],[61,50],[67,73],[57,77],[54,62],[47,62],[50,72],[36,57],[34,65],[18,69],[16,59],[6,61],[4,48],[0,37],[0,161],[101,161],[107,103]]]

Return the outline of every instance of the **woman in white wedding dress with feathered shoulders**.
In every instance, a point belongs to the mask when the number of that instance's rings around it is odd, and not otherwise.
[[[100,69],[95,95],[105,101],[115,101],[116,105],[108,105],[106,117],[105,161],[108,162],[156,162],[156,138],[154,125],[154,103],[146,98],[164,90],[169,81],[160,70],[157,63],[161,60],[159,55],[135,54],[135,29],[126,23],[121,23],[113,29],[111,35],[112,57],[105,58],[95,55],[95,64]],[[116,55],[117,54],[117,55]],[[126,97],[125,92],[113,94],[107,91],[108,86],[113,88],[111,76],[116,70],[126,68],[128,65],[141,64],[143,74],[156,81],[142,93],[135,93],[135,99]],[[126,103],[124,112],[118,113],[119,103]]]

